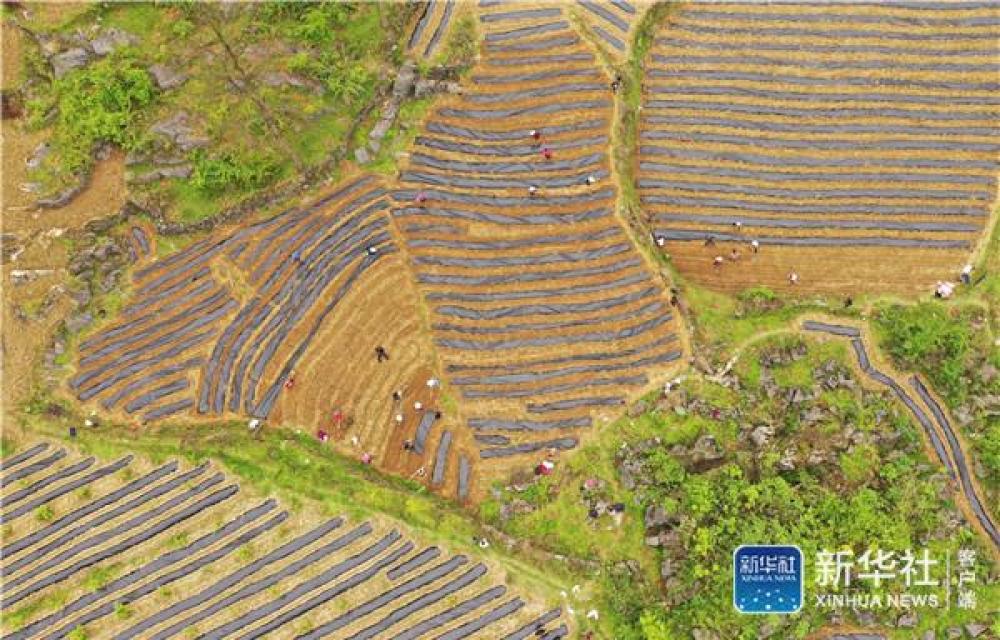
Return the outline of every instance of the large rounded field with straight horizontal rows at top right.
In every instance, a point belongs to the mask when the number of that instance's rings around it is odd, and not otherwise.
[[[681,7],[646,78],[655,235],[721,289],[955,279],[997,197],[998,24],[972,2]]]

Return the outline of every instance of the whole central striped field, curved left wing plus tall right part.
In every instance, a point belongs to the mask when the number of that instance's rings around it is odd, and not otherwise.
[[[615,215],[609,79],[564,9],[482,3],[482,62],[397,189],[355,178],[143,258],[129,306],[81,345],[77,397],[142,421],[306,426],[464,499],[664,379],[677,322]]]

